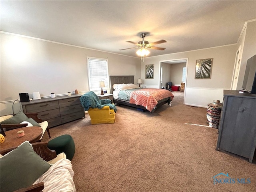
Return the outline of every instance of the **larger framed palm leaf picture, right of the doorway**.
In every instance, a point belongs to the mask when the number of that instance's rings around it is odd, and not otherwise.
[[[213,58],[196,60],[195,79],[210,79]]]

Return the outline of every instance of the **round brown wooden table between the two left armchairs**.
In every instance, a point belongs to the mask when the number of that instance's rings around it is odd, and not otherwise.
[[[17,131],[23,130],[25,135],[18,137]],[[17,148],[25,141],[30,143],[37,142],[43,134],[43,130],[40,127],[22,127],[5,132],[4,142],[0,144],[0,154],[4,155],[11,150]]]

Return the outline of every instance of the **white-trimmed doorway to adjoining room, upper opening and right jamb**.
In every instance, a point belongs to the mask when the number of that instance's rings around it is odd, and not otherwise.
[[[160,61],[159,65],[159,88],[165,87],[168,82],[172,82],[172,85],[181,85],[181,83],[185,83],[183,99],[184,103],[186,94],[188,58],[162,60]]]

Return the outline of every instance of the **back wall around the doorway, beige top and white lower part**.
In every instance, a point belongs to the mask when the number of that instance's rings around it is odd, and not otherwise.
[[[159,85],[160,62],[188,58],[187,80],[184,104],[206,107],[213,100],[223,99],[223,90],[230,89],[237,45],[227,45],[203,50],[194,50],[176,54],[144,58],[141,78],[144,84],[157,87]],[[211,79],[195,79],[196,60],[213,58]],[[155,64],[154,79],[145,80],[146,64]]]

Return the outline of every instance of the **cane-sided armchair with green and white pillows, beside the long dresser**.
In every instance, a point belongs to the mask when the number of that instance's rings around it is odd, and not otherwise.
[[[30,126],[38,126],[41,127],[43,130],[42,137],[44,136],[44,132],[47,131],[49,138],[50,131],[48,128],[48,122],[42,121],[40,118],[37,117],[38,113],[23,113],[18,112],[17,114],[6,115],[0,117],[0,126],[1,126],[1,133],[4,135],[5,131],[21,128],[21,127],[30,127]]]

